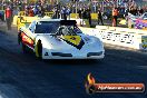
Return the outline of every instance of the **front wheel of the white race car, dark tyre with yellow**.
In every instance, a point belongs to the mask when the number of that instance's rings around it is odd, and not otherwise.
[[[42,43],[40,39],[38,40],[35,47],[35,52],[37,58],[42,59]]]

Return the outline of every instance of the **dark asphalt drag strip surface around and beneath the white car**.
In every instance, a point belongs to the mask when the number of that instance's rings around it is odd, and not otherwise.
[[[106,58],[90,60],[38,60],[22,53],[17,33],[0,33],[1,98],[147,98],[143,94],[87,95],[89,72],[97,82],[143,82],[147,86],[147,55],[106,46]]]

